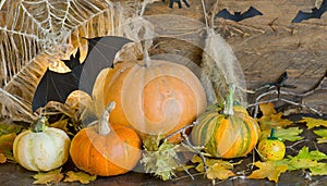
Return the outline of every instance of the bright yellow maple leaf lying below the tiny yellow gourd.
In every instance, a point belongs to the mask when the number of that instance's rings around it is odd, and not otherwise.
[[[254,163],[255,166],[259,168],[256,171],[253,171],[247,178],[268,178],[278,183],[279,176],[281,173],[284,173],[288,170],[287,164],[279,164],[276,161],[261,162],[257,161]]]

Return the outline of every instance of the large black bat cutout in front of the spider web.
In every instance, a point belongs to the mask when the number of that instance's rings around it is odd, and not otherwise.
[[[33,112],[45,107],[49,101],[65,102],[68,96],[74,90],[83,90],[92,95],[95,80],[99,72],[106,67],[112,67],[116,53],[130,39],[116,36],[97,37],[87,39],[88,51],[85,61],[81,64],[80,51],[70,60],[62,60],[71,70],[68,73],[46,71],[41,77],[34,98]]]

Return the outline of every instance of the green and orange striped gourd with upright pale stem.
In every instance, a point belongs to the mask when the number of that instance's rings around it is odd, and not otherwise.
[[[192,140],[217,158],[238,158],[250,153],[259,138],[259,127],[241,106],[233,104],[235,86],[230,85],[223,108],[209,107],[192,129]]]

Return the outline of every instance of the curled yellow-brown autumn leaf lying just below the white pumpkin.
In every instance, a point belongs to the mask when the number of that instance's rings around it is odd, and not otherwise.
[[[33,178],[36,179],[33,184],[57,184],[63,178],[63,174],[60,168],[50,172],[35,174]]]

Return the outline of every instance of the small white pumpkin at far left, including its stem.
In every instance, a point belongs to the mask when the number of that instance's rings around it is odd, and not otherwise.
[[[46,126],[46,121],[40,117],[32,129],[19,134],[13,144],[15,161],[29,171],[51,171],[69,158],[71,139],[62,129]]]

